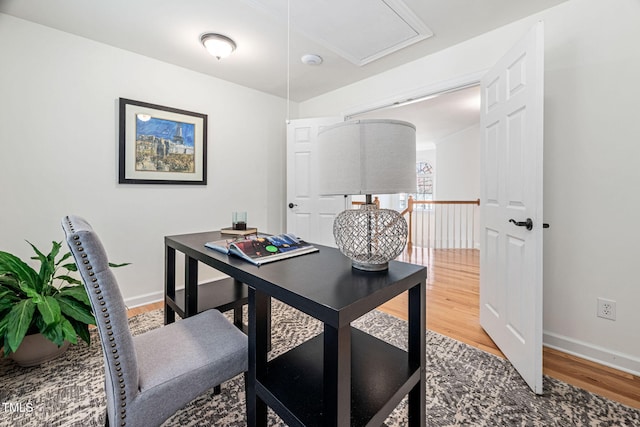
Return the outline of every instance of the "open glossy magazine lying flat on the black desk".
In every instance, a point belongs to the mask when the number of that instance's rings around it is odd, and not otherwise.
[[[207,242],[209,249],[240,257],[254,265],[318,252],[318,248],[293,234],[244,236]]]

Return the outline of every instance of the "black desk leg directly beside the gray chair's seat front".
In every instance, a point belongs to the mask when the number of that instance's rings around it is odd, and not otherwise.
[[[258,397],[257,381],[267,371],[267,329],[271,298],[249,287],[249,372],[246,383],[247,425],[267,425],[267,404]]]

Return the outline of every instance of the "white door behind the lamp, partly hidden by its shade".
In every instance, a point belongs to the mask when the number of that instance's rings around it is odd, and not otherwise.
[[[316,165],[318,131],[340,117],[291,120],[287,125],[287,232],[308,242],[334,246],[333,220],[344,196],[320,196]]]

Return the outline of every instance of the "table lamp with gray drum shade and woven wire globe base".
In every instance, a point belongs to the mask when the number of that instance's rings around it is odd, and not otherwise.
[[[321,195],[366,195],[360,209],[336,216],[333,236],[352,267],[384,271],[407,243],[407,222],[399,212],[378,209],[372,194],[416,190],[416,128],[398,120],[353,120],[318,133],[318,190]]]

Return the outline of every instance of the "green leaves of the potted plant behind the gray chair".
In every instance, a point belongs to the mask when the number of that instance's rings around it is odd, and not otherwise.
[[[88,344],[89,325],[96,323],[82,282],[69,275],[78,270],[73,261],[66,262],[71,253],[60,255],[60,242],[52,242],[47,255],[27,243],[36,253],[31,259],[40,261],[39,271],[0,251],[0,344],[5,356],[18,349],[25,335],[38,332],[58,346],[65,340],[76,344],[77,337]]]

